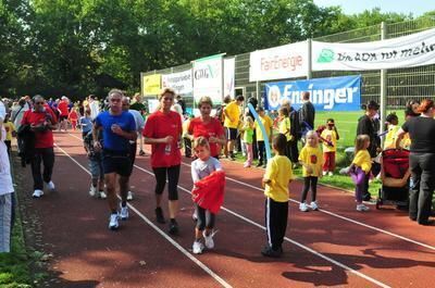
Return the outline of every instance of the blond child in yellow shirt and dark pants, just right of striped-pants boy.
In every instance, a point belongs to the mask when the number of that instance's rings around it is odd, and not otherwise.
[[[299,161],[302,165],[303,189],[301,193],[299,210],[308,212],[307,193],[311,188],[311,209],[319,210],[316,193],[318,179],[322,177],[322,151],[319,147],[319,136],[314,130],[309,130],[306,135],[306,146],[299,154]]]

